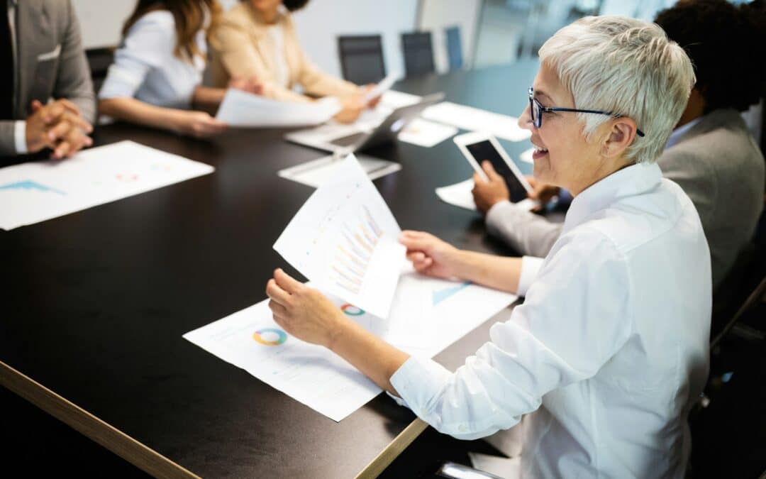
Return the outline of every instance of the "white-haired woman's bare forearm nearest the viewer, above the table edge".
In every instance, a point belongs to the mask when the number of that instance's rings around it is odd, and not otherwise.
[[[350,320],[345,320],[332,343],[327,346],[333,353],[362,372],[375,384],[391,394],[398,395],[391,385],[391,376],[409,355],[386,343],[378,336]]]

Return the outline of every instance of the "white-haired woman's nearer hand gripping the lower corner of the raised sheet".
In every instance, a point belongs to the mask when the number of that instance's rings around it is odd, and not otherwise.
[[[274,321],[307,343],[332,346],[348,321],[340,308],[318,290],[296,281],[281,269],[266,284]]]

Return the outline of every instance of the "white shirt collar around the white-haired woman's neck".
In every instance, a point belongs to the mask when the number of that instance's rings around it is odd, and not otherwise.
[[[620,198],[650,191],[660,184],[662,177],[663,172],[656,162],[637,163],[595,182],[572,199],[562,233],[580,225],[594,212],[609,207]]]

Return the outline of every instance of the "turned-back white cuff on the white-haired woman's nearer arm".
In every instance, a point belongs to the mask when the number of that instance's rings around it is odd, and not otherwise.
[[[433,425],[429,405],[440,394],[449,381],[452,372],[432,359],[410,356],[391,376],[391,385],[396,389],[401,401],[418,417]]]

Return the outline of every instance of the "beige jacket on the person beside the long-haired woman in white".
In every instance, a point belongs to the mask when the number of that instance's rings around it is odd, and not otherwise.
[[[284,34],[284,59],[290,78],[290,87],[277,83],[276,59],[271,38],[260,13],[241,2],[227,11],[211,32],[210,78],[214,87],[226,87],[231,77],[258,77],[264,85],[264,97],[276,100],[307,101],[290,88],[300,84],[309,94],[344,97],[354,94],[355,84],[341,80],[319,70],[303,53],[289,13],[280,12],[277,25]]]

